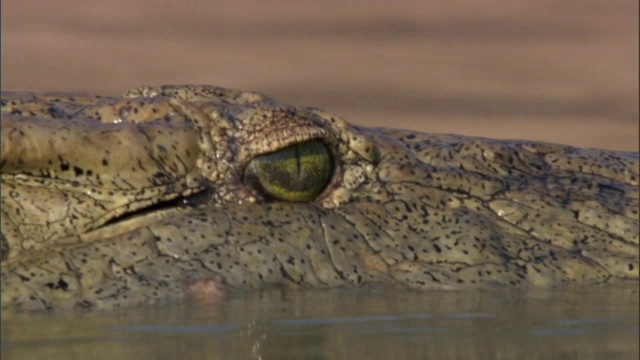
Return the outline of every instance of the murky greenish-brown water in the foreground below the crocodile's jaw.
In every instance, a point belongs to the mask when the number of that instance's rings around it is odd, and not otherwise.
[[[637,359],[638,288],[240,292],[2,320],[3,359]]]

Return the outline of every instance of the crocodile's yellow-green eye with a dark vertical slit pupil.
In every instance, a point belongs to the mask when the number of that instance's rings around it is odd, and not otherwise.
[[[274,198],[310,201],[324,190],[332,172],[327,146],[310,140],[256,156],[245,169],[244,179]]]

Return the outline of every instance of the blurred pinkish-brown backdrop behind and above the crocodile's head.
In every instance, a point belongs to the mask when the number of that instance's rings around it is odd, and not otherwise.
[[[198,83],[351,122],[638,150],[638,1],[2,1],[2,89]]]

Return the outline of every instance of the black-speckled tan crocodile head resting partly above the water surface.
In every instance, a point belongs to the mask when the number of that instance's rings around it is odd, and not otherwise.
[[[167,85],[3,92],[0,170],[3,312],[279,286],[638,286],[638,152]]]

